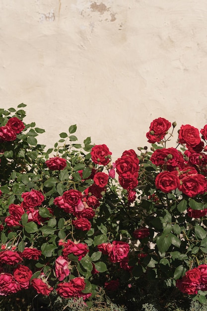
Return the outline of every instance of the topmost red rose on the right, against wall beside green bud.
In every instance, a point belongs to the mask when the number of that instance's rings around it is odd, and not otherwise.
[[[146,134],[149,143],[159,142],[164,138],[171,123],[165,118],[158,118],[151,122],[149,132]]]

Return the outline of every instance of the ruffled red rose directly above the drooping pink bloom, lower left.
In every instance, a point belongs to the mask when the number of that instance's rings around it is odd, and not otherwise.
[[[69,254],[78,256],[78,260],[84,257],[89,252],[87,244],[77,243],[75,244],[71,240],[67,240],[64,243],[63,254],[64,257],[68,257]]]

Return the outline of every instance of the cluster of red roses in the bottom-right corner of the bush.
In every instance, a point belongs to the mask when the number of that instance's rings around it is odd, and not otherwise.
[[[176,281],[176,287],[188,295],[197,295],[198,291],[207,290],[207,265],[202,264],[185,273],[182,279]]]

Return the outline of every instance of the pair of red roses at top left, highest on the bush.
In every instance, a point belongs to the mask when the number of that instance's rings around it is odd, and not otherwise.
[[[6,125],[0,127],[0,140],[3,142],[15,141],[16,135],[25,128],[23,122],[16,118],[8,119]]]

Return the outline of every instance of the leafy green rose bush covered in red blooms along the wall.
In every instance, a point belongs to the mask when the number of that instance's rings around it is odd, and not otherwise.
[[[147,276],[205,303],[207,125],[182,125],[166,148],[176,123],[155,119],[150,151],[112,163],[106,145],[77,142],[76,125],[45,152],[44,130],[24,116],[0,109],[0,295],[87,301],[97,286],[121,296]]]

